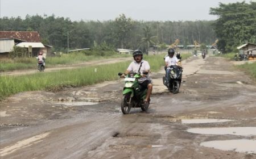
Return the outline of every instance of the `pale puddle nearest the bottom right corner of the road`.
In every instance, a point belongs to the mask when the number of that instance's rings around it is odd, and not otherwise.
[[[216,140],[207,141],[200,144],[203,147],[220,150],[234,150],[242,153],[256,153],[256,140]]]

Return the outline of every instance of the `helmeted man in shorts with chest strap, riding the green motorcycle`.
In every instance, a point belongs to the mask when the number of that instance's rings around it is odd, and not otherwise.
[[[150,95],[152,93],[152,81],[150,78],[148,78],[148,73],[150,72],[150,65],[147,61],[143,60],[143,53],[140,50],[135,50],[133,52],[133,58],[134,61],[131,62],[131,64],[128,66],[127,70],[125,71],[125,74],[123,74],[121,77],[125,77],[130,72],[140,72],[142,75],[142,78],[139,79],[139,85],[142,86],[142,89],[147,89],[147,95],[144,99],[144,104],[148,104],[150,102]]]

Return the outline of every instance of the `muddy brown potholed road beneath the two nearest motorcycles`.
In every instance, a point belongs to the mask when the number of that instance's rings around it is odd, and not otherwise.
[[[1,158],[256,158],[255,82],[221,57],[183,65],[178,94],[151,73],[146,112],[122,114],[121,80],[13,95],[1,103]]]

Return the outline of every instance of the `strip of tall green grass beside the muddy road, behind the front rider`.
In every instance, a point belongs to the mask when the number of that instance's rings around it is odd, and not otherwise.
[[[150,63],[151,70],[156,71],[163,66],[163,56],[144,56]],[[132,60],[132,58],[131,58]],[[117,64],[86,66],[72,70],[60,70],[57,72],[35,73],[24,76],[1,76],[0,99],[9,97],[22,91],[50,90],[58,91],[63,87],[86,86],[103,81],[117,80],[118,72],[124,72],[130,62],[119,62]],[[94,72],[94,69],[97,72]]]

